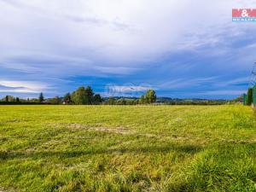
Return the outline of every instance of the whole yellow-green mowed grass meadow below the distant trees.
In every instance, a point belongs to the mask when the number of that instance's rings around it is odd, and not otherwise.
[[[256,118],[224,106],[0,106],[0,191],[256,191]]]

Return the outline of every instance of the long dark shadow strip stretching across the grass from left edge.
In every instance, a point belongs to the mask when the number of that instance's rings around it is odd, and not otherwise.
[[[168,144],[166,146],[148,146],[137,148],[90,148],[85,150],[66,150],[66,151],[35,151],[35,152],[1,152],[0,160],[12,160],[20,158],[74,158],[83,155],[96,154],[167,154],[170,152],[183,154],[197,154],[201,151],[198,145],[175,145]]]

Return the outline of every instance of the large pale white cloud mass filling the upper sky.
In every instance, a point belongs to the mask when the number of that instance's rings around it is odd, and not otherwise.
[[[230,22],[230,11],[247,4],[252,6],[253,1],[1,0],[0,3],[0,24],[5,26],[0,38],[5,49],[2,57],[20,49],[36,49],[45,55],[89,59],[93,61],[87,66],[90,68],[98,64],[96,58],[108,60],[109,64],[104,65],[128,67],[177,49],[215,46],[227,33],[234,36],[245,31],[246,27]]]

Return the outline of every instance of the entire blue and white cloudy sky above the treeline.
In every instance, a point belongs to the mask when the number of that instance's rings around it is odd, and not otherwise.
[[[0,97],[235,98],[256,61],[256,0],[0,0]]]

